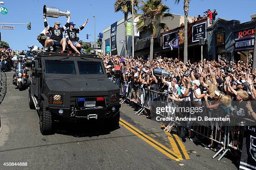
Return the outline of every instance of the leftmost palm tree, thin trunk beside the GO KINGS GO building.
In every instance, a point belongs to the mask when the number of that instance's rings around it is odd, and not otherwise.
[[[134,7],[138,8],[138,0],[133,0]],[[116,0],[115,5],[115,12],[122,11],[124,13],[124,23],[125,23],[125,57],[127,56],[127,36],[126,36],[126,23],[128,20],[128,13],[132,12],[132,4],[131,0]],[[134,8],[133,13],[137,13],[137,10]]]

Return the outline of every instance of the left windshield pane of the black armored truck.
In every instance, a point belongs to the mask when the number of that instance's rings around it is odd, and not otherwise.
[[[46,73],[49,74],[77,74],[74,61],[45,61]]]

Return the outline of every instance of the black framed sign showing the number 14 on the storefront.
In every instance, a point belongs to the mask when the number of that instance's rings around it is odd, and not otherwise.
[[[192,42],[199,41],[199,38],[207,39],[207,32],[206,32],[206,24],[207,22],[199,23],[192,26]]]

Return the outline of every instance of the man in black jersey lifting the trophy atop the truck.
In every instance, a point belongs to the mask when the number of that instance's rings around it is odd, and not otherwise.
[[[63,27],[59,27],[61,23],[59,21],[54,22],[54,27],[50,27],[47,23],[47,19],[44,16],[44,26],[46,30],[49,30],[51,33],[51,38],[46,40],[45,44],[46,47],[50,46],[62,46],[62,51],[65,51],[66,49],[66,39],[63,38],[63,31],[67,30],[67,27],[69,26],[70,22],[70,16],[68,16],[67,23]]]

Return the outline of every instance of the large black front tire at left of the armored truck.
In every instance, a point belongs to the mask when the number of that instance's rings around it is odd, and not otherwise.
[[[43,135],[49,135],[53,134],[53,119],[51,112],[49,110],[46,110],[46,107],[44,105],[44,101],[41,101],[40,106],[40,132]]]

